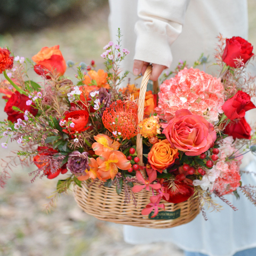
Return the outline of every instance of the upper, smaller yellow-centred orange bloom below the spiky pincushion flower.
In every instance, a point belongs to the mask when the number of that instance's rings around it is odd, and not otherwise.
[[[92,145],[92,149],[94,150],[95,154],[100,156],[102,152],[118,150],[121,143],[118,141],[114,141],[110,139],[105,134],[98,134],[97,136],[93,137],[95,141]]]

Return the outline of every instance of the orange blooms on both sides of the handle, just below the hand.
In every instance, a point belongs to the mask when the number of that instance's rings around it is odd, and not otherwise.
[[[131,95],[132,100],[139,99],[140,89],[135,87],[134,84],[128,84],[124,89],[119,90],[122,94]],[[154,109],[157,106],[157,94],[153,94],[152,91],[147,91],[145,95],[144,114],[149,116],[154,113]]]

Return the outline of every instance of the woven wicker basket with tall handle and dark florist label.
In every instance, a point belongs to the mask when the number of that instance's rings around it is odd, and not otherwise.
[[[149,66],[142,79],[138,102],[138,122],[143,119],[145,94],[151,70],[152,68]],[[153,90],[156,92],[156,84]],[[137,154],[141,159],[139,164],[142,165],[142,137],[140,134],[137,135]],[[141,171],[141,173],[146,178],[146,172]],[[90,181],[84,181],[82,187],[75,186],[74,188],[74,197],[78,206],[99,220],[138,227],[171,228],[190,222],[199,213],[199,199],[192,196],[186,202],[178,204],[163,201],[165,211],[160,211],[155,218],[151,218],[151,214],[148,216],[141,214],[142,209],[150,202],[149,198],[152,196],[150,191],[144,189],[136,193],[137,206],[135,206],[133,200],[129,204],[124,202],[124,192],[122,191],[118,195],[116,186],[108,188],[99,186],[100,183],[97,181],[90,184]]]

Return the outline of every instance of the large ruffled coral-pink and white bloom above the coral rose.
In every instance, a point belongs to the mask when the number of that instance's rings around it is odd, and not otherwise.
[[[178,109],[204,116],[210,123],[218,121],[223,113],[224,87],[220,78],[213,77],[199,69],[183,69],[164,81],[159,87],[156,112],[169,122]]]

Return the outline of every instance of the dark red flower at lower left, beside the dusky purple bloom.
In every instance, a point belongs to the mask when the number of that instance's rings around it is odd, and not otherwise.
[[[59,151],[49,147],[38,147],[37,150],[39,154],[34,156],[34,164],[38,168],[42,168],[46,165],[46,167],[44,168],[44,174],[47,176],[48,179],[53,179],[57,177],[60,173],[65,174],[68,171],[67,164],[62,165],[58,170],[55,170],[54,172],[51,171],[50,157],[53,157],[54,155],[56,155],[56,153],[59,153]],[[49,156],[49,162],[43,160],[42,156]]]

